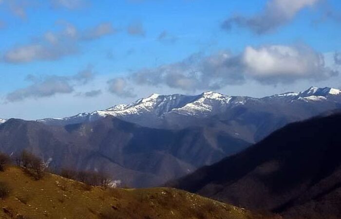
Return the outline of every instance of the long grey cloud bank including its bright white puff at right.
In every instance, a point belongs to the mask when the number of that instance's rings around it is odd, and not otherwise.
[[[209,56],[194,54],[180,62],[139,70],[114,80],[113,92],[127,91],[129,83],[196,91],[243,84],[246,80],[276,85],[336,75],[336,70],[325,65],[324,56],[307,45],[249,46],[240,54],[228,51]]]

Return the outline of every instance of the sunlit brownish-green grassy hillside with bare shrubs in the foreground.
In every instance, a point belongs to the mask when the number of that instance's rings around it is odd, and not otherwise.
[[[37,181],[19,167],[0,172],[10,188],[0,218],[20,219],[270,219],[170,188],[105,189],[54,174]]]

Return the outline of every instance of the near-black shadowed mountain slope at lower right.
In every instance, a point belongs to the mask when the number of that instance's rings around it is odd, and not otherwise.
[[[287,218],[341,218],[341,114],[290,124],[171,186]]]

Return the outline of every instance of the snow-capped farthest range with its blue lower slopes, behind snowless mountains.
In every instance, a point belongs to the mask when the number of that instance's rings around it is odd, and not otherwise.
[[[341,91],[311,87],[264,98],[200,95],[159,95],[129,105],[80,113],[66,118],[38,120],[47,125],[70,125],[114,116],[148,128],[214,127],[246,142],[255,143],[284,125],[341,108]]]

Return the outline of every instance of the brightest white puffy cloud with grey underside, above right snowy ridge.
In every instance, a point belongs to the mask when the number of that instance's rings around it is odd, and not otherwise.
[[[243,61],[248,75],[265,83],[301,78],[323,80],[338,74],[325,66],[322,54],[306,45],[247,47]]]

